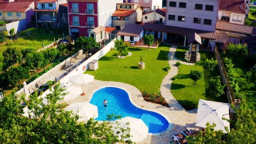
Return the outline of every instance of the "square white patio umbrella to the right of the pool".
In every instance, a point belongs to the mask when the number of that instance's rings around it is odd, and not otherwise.
[[[228,127],[229,131],[229,122],[223,120],[222,117],[229,119],[228,103],[199,99],[196,116],[196,126],[206,127],[207,122],[209,122],[210,124],[215,123],[216,127],[214,128],[214,130],[223,130],[223,132],[227,133],[227,131],[225,130],[225,126]]]

